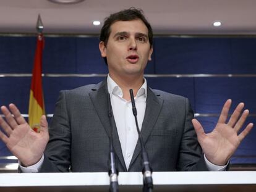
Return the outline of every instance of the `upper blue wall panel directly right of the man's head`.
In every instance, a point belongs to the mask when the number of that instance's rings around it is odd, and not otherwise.
[[[228,38],[155,38],[156,73],[229,73]]]

